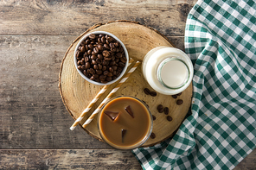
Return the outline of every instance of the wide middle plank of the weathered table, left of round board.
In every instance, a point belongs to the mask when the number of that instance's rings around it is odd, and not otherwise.
[[[0,148],[110,148],[62,103],[61,60],[75,36],[0,36]]]

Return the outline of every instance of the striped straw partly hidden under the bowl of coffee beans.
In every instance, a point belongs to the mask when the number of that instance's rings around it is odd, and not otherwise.
[[[128,66],[131,65],[131,63],[133,62],[133,59],[129,60],[129,64]],[[73,123],[73,125],[69,128],[71,130],[74,130],[75,127],[81,122],[81,120],[84,118],[84,116],[86,116],[86,113],[88,113],[89,110],[91,110],[91,108],[93,107],[93,104],[95,104],[97,102],[97,100],[101,97],[101,95],[106,91],[108,85],[105,85],[96,95],[95,98],[93,98],[93,100],[91,101],[91,103],[86,107],[85,110],[83,110],[83,112],[81,113],[81,115],[76,119],[76,121]]]

